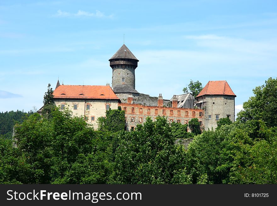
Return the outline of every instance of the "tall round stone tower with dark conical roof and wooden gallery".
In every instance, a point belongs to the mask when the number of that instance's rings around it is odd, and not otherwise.
[[[112,73],[112,87],[127,85],[135,89],[135,69],[138,59],[125,44],[109,59]]]

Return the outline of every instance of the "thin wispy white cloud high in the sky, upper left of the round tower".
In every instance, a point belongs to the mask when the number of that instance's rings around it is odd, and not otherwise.
[[[96,18],[113,18],[113,14],[111,15],[105,15],[104,13],[96,10],[95,13],[90,13],[82,10],[78,10],[77,13],[69,13],[61,11],[60,9],[57,11],[56,14],[53,15],[54,17],[96,17]]]

